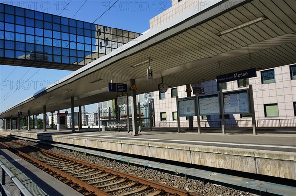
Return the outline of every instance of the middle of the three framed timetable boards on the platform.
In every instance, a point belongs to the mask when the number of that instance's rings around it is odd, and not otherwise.
[[[198,96],[198,115],[215,115],[220,114],[219,95]]]

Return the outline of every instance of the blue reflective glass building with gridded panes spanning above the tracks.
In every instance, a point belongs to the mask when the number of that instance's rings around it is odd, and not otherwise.
[[[0,3],[0,64],[77,70],[140,35]]]

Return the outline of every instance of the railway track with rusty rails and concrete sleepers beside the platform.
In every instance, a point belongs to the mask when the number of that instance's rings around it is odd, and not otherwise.
[[[0,145],[86,196],[201,196],[18,141]]]

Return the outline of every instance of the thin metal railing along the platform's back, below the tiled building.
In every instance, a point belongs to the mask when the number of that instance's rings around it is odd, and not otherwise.
[[[188,121],[180,122],[181,127],[188,127]],[[197,127],[197,121],[193,121],[193,126]],[[206,128],[220,128],[222,127],[222,120],[201,120],[201,127]],[[175,122],[156,122],[155,127],[161,128],[174,128],[177,127],[177,121]],[[235,119],[225,119],[225,127],[228,128],[250,128],[252,127],[252,120],[235,120]],[[256,120],[256,127],[296,127],[296,119],[258,119]]]

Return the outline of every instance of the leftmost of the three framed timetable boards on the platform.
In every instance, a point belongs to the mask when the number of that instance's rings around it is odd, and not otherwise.
[[[178,99],[179,117],[196,116],[195,97],[185,97]]]

